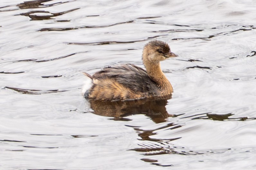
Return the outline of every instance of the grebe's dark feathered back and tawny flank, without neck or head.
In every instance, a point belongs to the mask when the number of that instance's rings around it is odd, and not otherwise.
[[[133,64],[106,67],[93,76],[86,98],[94,100],[134,100],[160,95],[159,87],[146,70]]]

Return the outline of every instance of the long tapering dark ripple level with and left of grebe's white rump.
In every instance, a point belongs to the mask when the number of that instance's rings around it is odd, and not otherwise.
[[[15,87],[5,86],[4,88],[12,89],[16,92],[23,94],[45,94],[45,93],[58,93],[58,92],[66,92],[67,90],[34,90],[34,89],[21,89]]]

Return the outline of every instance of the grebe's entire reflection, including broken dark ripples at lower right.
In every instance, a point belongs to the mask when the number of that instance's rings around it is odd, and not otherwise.
[[[170,121],[168,117],[177,117],[179,115],[170,115],[165,106],[168,103],[168,99],[147,99],[147,100],[134,100],[134,101],[89,101],[91,108],[94,110],[94,114],[107,116],[107,117],[114,117],[114,120],[129,120],[125,118],[126,116],[133,115],[133,114],[144,114],[150,117],[155,123],[162,123],[158,126],[152,126],[151,128],[144,129],[143,126],[132,126],[126,125],[128,127],[132,127],[134,131],[138,134],[138,147],[129,149],[140,152],[143,156],[153,156],[153,155],[162,155],[162,154],[178,154],[178,155],[201,155],[201,154],[209,154],[209,153],[219,153],[219,152],[226,152],[229,151],[230,148],[223,148],[223,149],[206,149],[206,150],[191,150],[187,147],[183,146],[175,146],[172,144],[172,141],[178,140],[182,138],[182,136],[165,136],[164,138],[158,138],[154,135],[161,133],[162,131],[171,131],[173,129],[181,128],[183,125],[179,121]],[[200,117],[196,118],[211,118],[213,120],[223,120],[226,119],[228,116],[232,114],[219,115],[204,113],[200,114]],[[196,115],[198,116],[198,114]],[[189,116],[187,118],[190,119]],[[186,117],[183,117],[186,118]],[[196,119],[191,118],[191,119]],[[179,132],[187,131],[186,129],[180,129]],[[172,166],[171,164],[160,164],[157,159],[151,159],[150,157],[141,158],[141,160],[145,162],[151,162],[152,165],[157,166]]]

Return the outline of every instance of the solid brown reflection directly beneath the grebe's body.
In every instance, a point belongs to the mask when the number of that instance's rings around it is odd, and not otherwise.
[[[123,118],[134,114],[144,114],[155,123],[165,122],[167,117],[174,115],[168,114],[165,105],[171,95],[165,99],[143,99],[133,101],[89,101],[94,114],[101,116],[114,117],[114,120],[129,120]]]

